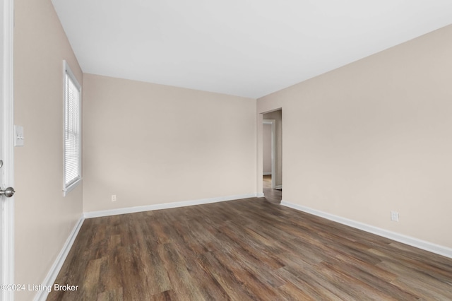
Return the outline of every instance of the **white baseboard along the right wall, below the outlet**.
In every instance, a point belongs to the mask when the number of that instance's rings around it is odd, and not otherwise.
[[[412,247],[417,247],[419,249],[424,249],[426,251],[436,253],[442,256],[446,256],[448,258],[452,258],[452,249],[448,247],[441,246],[439,244],[433,244],[432,242],[427,242],[425,240],[419,240],[415,237],[410,237],[407,235],[403,235],[397,232],[392,232],[388,230],[384,230],[378,227],[374,227],[372,225],[367,225],[365,223],[360,223],[355,220],[349,220],[348,218],[343,218],[340,216],[335,216],[330,213],[326,213],[323,211],[319,211],[316,209],[312,209],[309,207],[305,207],[302,205],[298,205],[296,203],[290,203],[288,201],[281,201],[281,205],[290,207],[299,211],[303,211],[306,213],[313,214],[314,216],[320,216],[321,218],[326,218],[328,220],[333,220],[337,223],[341,223],[343,225],[348,225],[353,228],[357,228],[359,230],[363,230],[366,232],[370,232],[382,237],[389,238],[390,240],[396,240],[397,242],[402,242],[403,244],[409,244]]]

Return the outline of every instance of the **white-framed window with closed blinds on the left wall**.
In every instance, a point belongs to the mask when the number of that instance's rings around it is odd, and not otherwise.
[[[64,61],[64,196],[81,182],[81,86]]]

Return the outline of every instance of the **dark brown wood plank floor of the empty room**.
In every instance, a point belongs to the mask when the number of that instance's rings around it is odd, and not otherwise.
[[[452,259],[244,199],[87,219],[47,300],[452,300]]]

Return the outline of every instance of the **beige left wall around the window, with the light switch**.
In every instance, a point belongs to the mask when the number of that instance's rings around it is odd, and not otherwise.
[[[15,282],[41,284],[82,214],[82,186],[63,197],[63,59],[83,75],[52,3],[15,1]],[[35,292],[16,293],[31,300]]]

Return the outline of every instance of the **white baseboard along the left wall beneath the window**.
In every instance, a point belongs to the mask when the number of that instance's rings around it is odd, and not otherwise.
[[[47,273],[47,276],[45,277],[42,285],[45,285],[46,287],[50,287],[53,290],[53,285],[54,285],[55,279],[57,279],[58,273],[61,270],[61,266],[63,266],[64,261],[66,260],[66,257],[68,256],[69,251],[71,250],[74,240],[76,240],[78,231],[80,230],[80,228],[83,224],[83,220],[85,220],[85,218],[83,218],[83,216],[81,216],[81,218],[78,219],[71,234],[69,234],[68,239],[64,243],[63,248],[59,252],[57,259],[55,259],[54,264],[50,268],[49,273]],[[47,299],[48,295],[49,295],[48,290],[39,290],[33,300],[34,301],[45,301]]]

